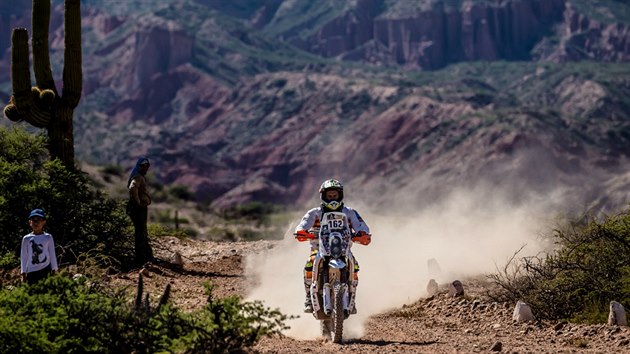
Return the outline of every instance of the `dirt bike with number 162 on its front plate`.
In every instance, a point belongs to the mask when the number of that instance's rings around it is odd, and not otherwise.
[[[353,236],[356,235],[352,234],[344,213],[324,213],[318,237],[319,252],[313,264],[311,301],[313,316],[320,320],[322,336],[334,343],[341,342],[343,322],[355,308],[354,257],[350,252]]]

